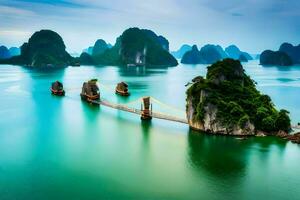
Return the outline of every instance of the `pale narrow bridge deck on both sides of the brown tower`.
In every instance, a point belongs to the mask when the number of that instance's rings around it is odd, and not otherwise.
[[[130,112],[130,113],[134,113],[137,115],[141,115],[142,111],[136,108],[130,108],[126,105],[122,105],[122,104],[116,104],[116,103],[112,103],[109,101],[105,101],[105,100],[99,100],[99,101],[92,101],[92,103],[94,104],[98,104],[98,105],[103,105],[103,106],[107,106],[113,109],[117,109],[117,110],[122,110],[125,112]],[[179,122],[179,123],[183,123],[183,124],[188,124],[188,121],[186,119],[182,119],[182,118],[178,118],[172,115],[166,115],[166,114],[162,114],[162,113],[156,113],[156,112],[152,112],[151,116],[153,118],[157,118],[157,119],[163,119],[163,120],[168,120],[168,121],[173,121],[173,122]]]

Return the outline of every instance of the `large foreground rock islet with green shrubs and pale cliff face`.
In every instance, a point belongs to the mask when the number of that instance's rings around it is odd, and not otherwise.
[[[238,60],[225,59],[208,67],[187,90],[186,112],[190,127],[213,134],[276,134],[290,129],[285,110],[277,111],[267,95],[245,74]]]

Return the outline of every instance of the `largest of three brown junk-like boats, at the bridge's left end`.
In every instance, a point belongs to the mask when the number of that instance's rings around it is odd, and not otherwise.
[[[94,100],[100,99],[99,87],[97,86],[97,79],[92,79],[84,82],[82,91],[80,93],[81,99],[92,103]]]

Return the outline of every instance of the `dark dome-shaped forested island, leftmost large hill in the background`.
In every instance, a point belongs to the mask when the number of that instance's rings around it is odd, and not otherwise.
[[[35,32],[21,46],[21,55],[2,61],[7,64],[21,64],[33,67],[67,66],[73,58],[66,52],[66,46],[56,32],[41,30]]]

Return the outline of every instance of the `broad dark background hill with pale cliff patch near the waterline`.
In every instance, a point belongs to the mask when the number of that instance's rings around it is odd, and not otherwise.
[[[169,42],[151,30],[129,28],[103,54],[93,55],[96,64],[176,66]]]

